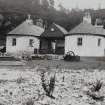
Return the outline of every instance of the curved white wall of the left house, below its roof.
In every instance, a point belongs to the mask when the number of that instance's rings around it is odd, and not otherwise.
[[[16,38],[16,46],[12,46],[12,39]],[[29,46],[29,40],[33,39],[34,44],[33,47]],[[23,52],[27,52],[30,54],[34,53],[34,49],[39,49],[39,39],[32,36],[7,36],[6,39],[6,52],[20,54]]]

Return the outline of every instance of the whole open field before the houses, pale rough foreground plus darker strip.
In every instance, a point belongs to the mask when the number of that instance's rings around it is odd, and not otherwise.
[[[105,62],[65,62],[36,60],[12,66],[0,62],[0,105],[105,105],[86,92],[97,80],[103,84],[99,96],[105,96]],[[5,66],[6,65],[6,66]],[[55,74],[52,99],[42,87],[41,73],[48,82]]]

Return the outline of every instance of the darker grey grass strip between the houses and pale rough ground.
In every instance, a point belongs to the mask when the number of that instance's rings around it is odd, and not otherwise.
[[[105,69],[105,61],[95,61],[95,60],[81,60],[80,62],[67,62],[64,60],[32,60],[27,61],[25,66],[0,66],[0,68],[14,68],[25,70],[26,68],[35,68],[39,66],[40,68],[50,67],[51,69],[73,69],[73,70],[82,70],[86,69],[92,71],[94,69],[104,70]],[[50,69],[50,70],[51,70]]]

